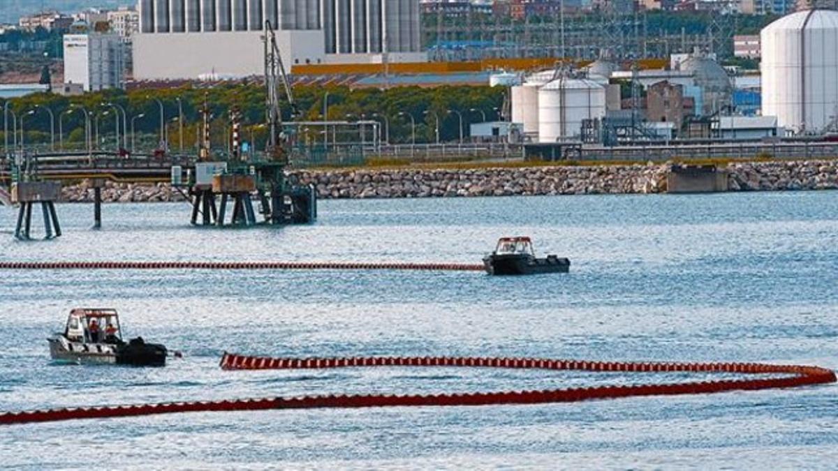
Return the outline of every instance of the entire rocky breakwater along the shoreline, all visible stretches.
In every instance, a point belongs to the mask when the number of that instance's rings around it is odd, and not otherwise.
[[[551,194],[665,193],[670,164],[596,167],[463,169],[343,169],[299,171],[322,199],[432,198]],[[728,191],[838,189],[838,161],[731,163]],[[90,202],[90,184],[62,189],[65,201]],[[184,201],[168,184],[117,184],[102,189],[106,202]]]

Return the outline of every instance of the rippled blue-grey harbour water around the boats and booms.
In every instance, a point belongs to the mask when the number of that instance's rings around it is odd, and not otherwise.
[[[683,379],[515,370],[224,372],[255,355],[732,360],[838,368],[838,192],[325,201],[316,225],[189,227],[186,204],[60,205],[65,235],[0,259],[475,262],[501,235],[566,276],[4,272],[0,411],[328,392]],[[68,310],[184,351],[164,369],[53,365]],[[654,376],[654,377],[652,377]],[[542,406],[193,413],[0,429],[0,467],[833,468],[838,387]]]

